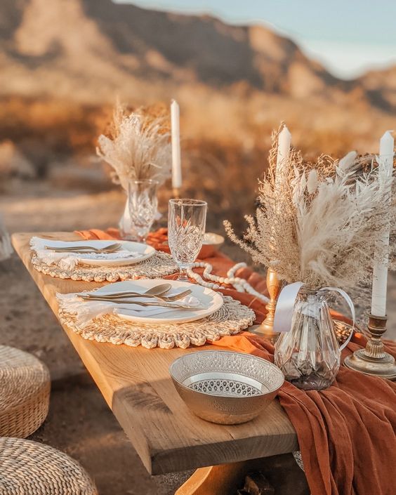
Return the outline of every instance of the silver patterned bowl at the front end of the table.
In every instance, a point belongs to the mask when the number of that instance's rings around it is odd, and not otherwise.
[[[223,425],[246,423],[258,416],[284,382],[275,364],[227,350],[190,352],[176,359],[169,371],[192,412]]]

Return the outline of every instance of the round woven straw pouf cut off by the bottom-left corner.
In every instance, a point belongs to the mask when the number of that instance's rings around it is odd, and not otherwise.
[[[77,461],[44,444],[0,438],[0,495],[97,495]]]

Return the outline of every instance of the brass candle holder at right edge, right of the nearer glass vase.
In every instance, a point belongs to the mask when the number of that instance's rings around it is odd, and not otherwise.
[[[396,380],[395,358],[383,348],[381,336],[386,331],[387,317],[369,315],[369,340],[364,349],[356,350],[345,357],[344,364],[350,369],[371,376],[380,376],[388,380]]]

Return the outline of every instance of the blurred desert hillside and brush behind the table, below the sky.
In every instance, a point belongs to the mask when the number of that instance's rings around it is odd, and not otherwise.
[[[395,68],[341,81],[268,27],[111,0],[2,0],[0,70],[4,193],[15,176],[105,190],[95,144],[117,95],[177,98],[185,192],[211,200],[218,225],[251,211],[280,121],[306,157],[376,151],[395,127]]]

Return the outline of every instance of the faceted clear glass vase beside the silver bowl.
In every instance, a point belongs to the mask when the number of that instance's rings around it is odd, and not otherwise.
[[[301,289],[291,329],[275,344],[275,364],[287,381],[304,390],[329,387],[340,368],[341,350],[326,299],[326,291]]]

